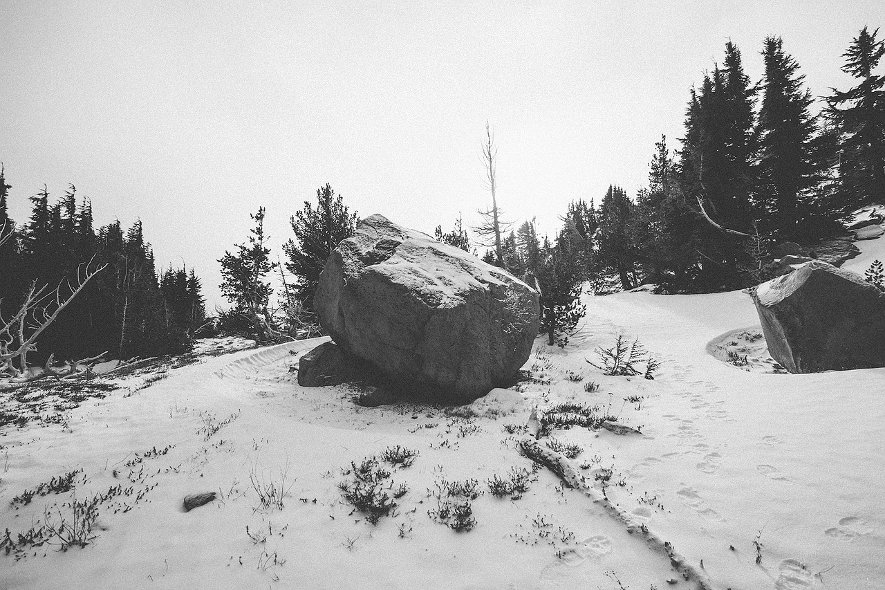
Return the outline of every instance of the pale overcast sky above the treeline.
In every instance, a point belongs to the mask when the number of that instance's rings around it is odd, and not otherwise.
[[[473,225],[489,120],[505,217],[552,234],[573,199],[635,195],[729,38],[758,80],[781,35],[821,96],[882,24],[881,0],[0,0],[0,161],[16,221],[72,182],[96,226],[141,219],[159,266],[196,268],[212,309],[258,206],[274,256],[326,182],[361,216]]]

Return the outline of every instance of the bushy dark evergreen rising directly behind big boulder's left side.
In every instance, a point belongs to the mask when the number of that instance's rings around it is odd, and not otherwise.
[[[293,291],[304,308],[313,309],[319,274],[339,242],[353,235],[357,221],[357,213],[350,213],[342,196],[328,184],[317,189],[316,208],[304,201],[304,209],[290,219],[295,240],[290,239],[283,250],[289,257],[286,268],[297,279]]]

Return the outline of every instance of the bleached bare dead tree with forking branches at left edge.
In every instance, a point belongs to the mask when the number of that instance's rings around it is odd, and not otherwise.
[[[89,279],[107,266],[102,264],[93,268],[94,260],[93,257],[93,260],[77,268],[77,279],[73,284],[63,282],[66,291],[70,291],[69,295],[62,295],[63,283],[50,290],[48,284],[38,287],[35,280],[28,287],[18,311],[9,319],[0,314],[0,374],[17,377],[27,370],[27,353],[36,350],[37,338],[43,330],[55,322],[58,314],[83,291]],[[18,359],[18,368],[14,366],[13,359]]]

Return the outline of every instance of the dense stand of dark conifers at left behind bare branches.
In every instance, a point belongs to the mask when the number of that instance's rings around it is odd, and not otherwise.
[[[4,221],[12,225],[5,205],[9,188],[0,173],[0,226]],[[42,333],[30,361],[45,361],[50,353],[57,359],[75,359],[107,351],[128,358],[189,349],[190,333],[204,316],[199,280],[191,271],[193,314],[167,322],[166,310],[175,304],[160,289],[141,221],[126,232],[119,221],[96,232],[92,205],[83,200],[78,206],[73,185],[57,203],[50,202],[45,186],[30,200],[30,219],[16,229],[14,239],[0,246],[0,314],[18,309],[33,281],[51,287],[73,279],[89,260],[93,266],[108,265]]]

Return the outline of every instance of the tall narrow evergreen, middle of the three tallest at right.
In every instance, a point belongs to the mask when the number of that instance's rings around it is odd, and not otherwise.
[[[804,74],[798,74],[799,65],[784,52],[780,37],[766,38],[762,56],[765,82],[758,117],[758,204],[781,237],[797,237],[817,182],[810,150],[816,130],[809,111],[812,95],[803,89]]]

